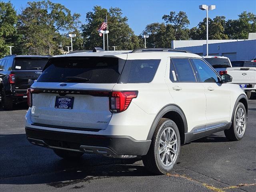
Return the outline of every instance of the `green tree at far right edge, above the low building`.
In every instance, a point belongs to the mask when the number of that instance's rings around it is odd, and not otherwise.
[[[256,14],[244,11],[238,19],[228,20],[225,32],[230,39],[248,39],[249,33],[256,32]]]

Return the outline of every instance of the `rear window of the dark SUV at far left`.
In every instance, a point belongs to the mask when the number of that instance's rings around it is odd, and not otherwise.
[[[14,70],[43,70],[46,58],[15,58]]]

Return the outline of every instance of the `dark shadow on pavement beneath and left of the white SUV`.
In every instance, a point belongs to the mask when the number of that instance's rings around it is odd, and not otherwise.
[[[194,142],[226,141],[225,137],[210,135]],[[63,160],[48,148],[30,144],[25,134],[1,134],[0,146],[0,184],[48,184],[61,188],[113,176],[153,175],[140,159],[84,154],[79,160]]]

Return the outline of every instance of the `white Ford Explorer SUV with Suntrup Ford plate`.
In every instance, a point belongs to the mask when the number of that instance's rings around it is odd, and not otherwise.
[[[148,170],[165,174],[186,142],[222,130],[242,139],[247,98],[231,80],[186,51],[54,56],[28,89],[26,136],[62,158],[142,156]]]

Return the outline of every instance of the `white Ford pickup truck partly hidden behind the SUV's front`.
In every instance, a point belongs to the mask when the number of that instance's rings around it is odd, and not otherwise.
[[[256,60],[230,62],[229,58],[224,56],[203,56],[203,58],[220,75],[231,75],[232,83],[244,89],[248,99],[256,92]]]

